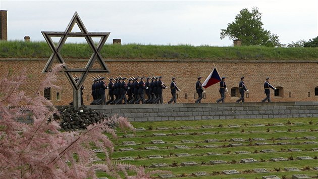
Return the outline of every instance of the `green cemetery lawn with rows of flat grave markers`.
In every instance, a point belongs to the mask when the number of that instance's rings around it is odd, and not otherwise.
[[[168,170],[176,177],[182,178],[262,178],[268,175],[292,178],[293,174],[307,174],[311,177],[318,175],[318,118],[162,121],[132,124],[136,131],[117,132],[119,138],[113,140],[115,151],[111,154],[113,162],[144,166],[146,171]],[[127,136],[129,134],[133,137]],[[147,150],[145,147],[150,149]],[[133,150],[123,151],[126,148]],[[177,156],[179,154],[186,156]],[[97,153],[97,156],[104,158],[103,153]],[[160,158],[149,158],[151,156]],[[273,161],[276,160],[273,158],[279,157],[283,160]],[[241,159],[251,160],[244,163]],[[216,160],[223,160],[225,163],[214,164]],[[182,162],[196,164],[183,166]],[[167,165],[157,168],[160,166],[157,163]],[[287,171],[287,167],[299,171]],[[253,169],[258,168],[264,168],[268,172],[256,173]],[[239,173],[225,174],[224,170],[236,170]],[[200,171],[205,171],[205,175],[193,176],[192,173]],[[109,177],[103,172],[98,172],[97,176]],[[152,176],[161,178],[158,174]]]

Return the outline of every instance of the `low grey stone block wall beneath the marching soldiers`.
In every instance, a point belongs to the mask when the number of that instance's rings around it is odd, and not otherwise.
[[[201,103],[87,106],[129,121],[318,117],[318,102]]]

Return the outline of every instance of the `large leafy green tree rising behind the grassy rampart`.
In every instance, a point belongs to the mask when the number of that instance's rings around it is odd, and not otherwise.
[[[262,25],[258,8],[252,8],[252,12],[244,8],[235,16],[235,21],[228,24],[227,29],[221,29],[220,38],[228,36],[231,40],[239,39],[244,46],[281,46],[277,34],[265,30]]]

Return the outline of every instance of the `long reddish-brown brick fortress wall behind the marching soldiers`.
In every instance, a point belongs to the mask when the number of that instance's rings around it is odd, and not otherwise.
[[[87,60],[84,59],[68,59],[66,61],[69,66],[77,68],[84,67],[87,63]],[[41,74],[41,71],[46,62],[47,59],[0,59],[1,77],[6,75],[8,69],[13,69],[15,74],[19,74],[26,66],[28,80],[21,89],[31,95],[35,93],[39,81],[45,76],[45,74]],[[178,103],[194,103],[196,78],[202,76],[203,83],[213,69],[213,63],[217,66],[220,75],[227,77],[226,84],[230,93],[232,87],[238,87],[240,77],[245,76],[245,84],[250,91],[248,98],[245,96],[245,102],[260,102],[264,98],[263,83],[267,76],[271,77],[271,84],[281,87],[279,97],[274,97],[274,91],[271,90],[273,102],[317,101],[318,99],[314,93],[315,87],[318,86],[316,79],[318,76],[317,61],[106,59],[105,63],[111,73],[99,74],[100,76],[148,76],[151,73],[163,76],[162,80],[167,86],[170,85],[171,77],[177,77],[176,82],[181,89],[181,92],[178,92]],[[89,105],[92,101],[90,94],[93,75],[97,74],[89,74],[84,82],[86,87],[83,95],[85,105]],[[56,92],[61,92],[61,100],[55,104],[67,105],[72,101],[73,93],[72,87],[63,73],[58,76],[57,84],[62,89],[52,90],[52,100],[56,101]],[[185,95],[187,95],[187,99],[185,99]],[[164,89],[163,97],[165,103],[170,100],[170,89]],[[218,98],[220,98],[219,84],[216,84],[206,89],[205,99],[202,99],[201,102],[215,103]],[[225,101],[233,103],[237,99],[238,97],[227,96]]]

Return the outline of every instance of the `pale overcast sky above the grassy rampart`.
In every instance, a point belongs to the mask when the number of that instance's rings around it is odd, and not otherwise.
[[[8,11],[8,40],[44,41],[41,31],[65,31],[77,12],[89,32],[111,32],[106,43],[233,46],[221,29],[240,10],[257,7],[263,28],[284,44],[318,36],[318,1],[16,1],[0,0]],[[73,31],[79,31],[74,27]],[[84,38],[68,38],[82,42]]]

